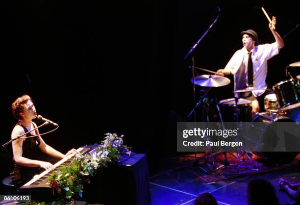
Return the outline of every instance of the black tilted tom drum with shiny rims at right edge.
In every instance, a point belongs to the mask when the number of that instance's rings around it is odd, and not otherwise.
[[[273,90],[282,110],[290,110],[300,106],[300,86],[293,79],[276,83]]]

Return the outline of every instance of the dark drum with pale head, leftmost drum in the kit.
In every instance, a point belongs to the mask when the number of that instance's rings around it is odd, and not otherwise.
[[[218,103],[218,106],[220,108],[223,122],[235,122],[234,111],[236,104],[234,98],[222,100]],[[237,108],[238,121],[251,122],[251,101],[240,98],[237,102]]]

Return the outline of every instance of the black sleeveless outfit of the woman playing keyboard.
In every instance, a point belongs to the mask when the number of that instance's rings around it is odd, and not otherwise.
[[[34,128],[35,125],[32,124]],[[28,129],[25,126],[20,125],[27,132]],[[33,136],[31,133],[26,134],[26,137]],[[22,145],[22,156],[28,159],[41,160],[42,151],[39,149],[40,140],[38,137],[29,137],[23,141]],[[10,173],[12,182],[15,186],[20,187],[28,182],[34,175],[39,174],[42,171],[40,167],[25,167],[14,164],[14,169]]]

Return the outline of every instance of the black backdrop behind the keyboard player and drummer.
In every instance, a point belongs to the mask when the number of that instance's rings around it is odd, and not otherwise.
[[[215,19],[216,6],[222,17],[195,53],[196,66],[214,71],[242,48],[242,30],[254,29],[262,44],[275,41],[261,6],[276,16],[282,37],[300,23],[296,1],[230,2],[1,2],[0,144],[16,123],[11,103],[26,93],[38,114],[59,124],[44,140],[63,153],[99,143],[106,132],[125,134],[134,152],[174,153],[175,123],[189,120],[194,104],[191,60],[183,57]],[[299,30],[269,60],[269,87],[300,60]],[[212,95],[232,97],[232,84]]]

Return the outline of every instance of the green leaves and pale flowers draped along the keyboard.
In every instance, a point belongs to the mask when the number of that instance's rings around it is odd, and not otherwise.
[[[105,168],[109,163],[118,162],[120,154],[130,154],[123,145],[123,137],[106,133],[104,140],[93,154],[76,154],[75,160],[68,167],[59,168],[59,173],[53,172],[49,178],[50,185],[64,199],[62,204],[69,204],[74,194],[82,198],[83,182],[89,182],[97,170]],[[60,203],[60,202],[57,202]]]

